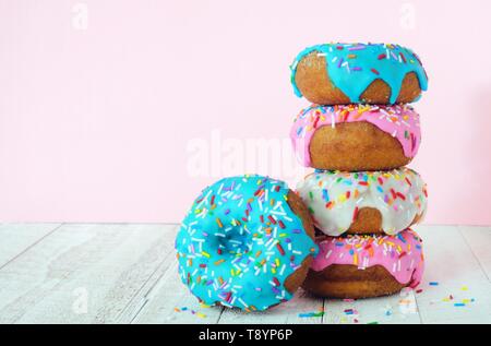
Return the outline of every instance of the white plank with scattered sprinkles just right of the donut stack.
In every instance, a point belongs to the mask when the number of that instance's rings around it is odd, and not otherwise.
[[[421,321],[491,323],[491,284],[458,227],[418,226],[416,231],[426,253],[426,273],[418,287],[422,293],[416,295]]]

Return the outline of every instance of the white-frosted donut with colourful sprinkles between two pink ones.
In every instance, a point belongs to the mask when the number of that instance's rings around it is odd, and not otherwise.
[[[427,188],[412,169],[342,172],[316,170],[298,183],[315,227],[327,236],[395,235],[418,223]]]

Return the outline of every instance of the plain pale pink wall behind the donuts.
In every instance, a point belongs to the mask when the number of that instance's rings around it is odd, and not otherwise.
[[[0,220],[179,222],[221,175],[297,181],[307,105],[288,65],[309,45],[399,43],[431,224],[491,224],[488,1],[0,0]],[[258,154],[259,153],[259,154]]]

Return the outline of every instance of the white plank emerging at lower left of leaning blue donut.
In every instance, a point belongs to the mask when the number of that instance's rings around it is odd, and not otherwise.
[[[172,260],[169,269],[145,296],[145,303],[133,323],[192,323],[215,324],[223,308],[202,307],[178,275],[178,262]]]

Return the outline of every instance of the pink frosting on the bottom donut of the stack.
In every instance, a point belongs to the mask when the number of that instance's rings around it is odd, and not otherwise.
[[[424,270],[421,238],[410,228],[396,236],[327,237],[319,248],[311,266],[315,272],[332,264],[354,264],[360,270],[382,265],[400,284],[416,287]]]

